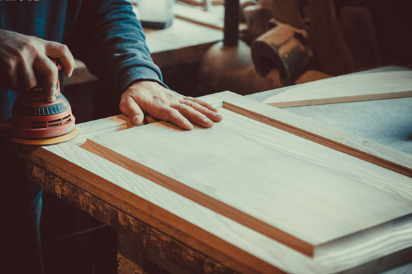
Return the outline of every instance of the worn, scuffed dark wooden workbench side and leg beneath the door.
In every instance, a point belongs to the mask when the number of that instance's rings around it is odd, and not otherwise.
[[[124,254],[122,258],[128,259],[128,262],[125,262],[126,265],[121,265],[118,262],[119,273],[122,273],[125,266],[133,266],[132,269],[136,267],[141,269],[146,258],[156,262],[170,273],[185,273],[183,271],[171,271],[170,267],[166,267],[168,266],[166,264],[161,264],[159,259],[153,260],[156,257],[161,258],[161,260],[175,262],[176,264],[184,262],[184,269],[189,273],[233,273],[233,270],[222,266],[216,260],[205,256],[191,247],[187,247],[183,242],[171,238],[122,210],[114,208],[89,192],[74,186],[60,177],[56,177],[44,169],[38,168],[38,166],[28,163],[27,173],[30,180],[39,184],[45,191],[51,192],[52,195],[62,199],[62,201],[87,212],[93,218],[117,230],[117,254]],[[179,257],[182,256],[187,258],[187,260],[179,260]],[[242,268],[238,267],[238,269]],[[125,272],[128,273],[127,271]],[[242,269],[242,272],[253,273],[251,269]]]

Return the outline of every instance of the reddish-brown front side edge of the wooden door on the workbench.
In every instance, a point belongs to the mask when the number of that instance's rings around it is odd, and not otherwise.
[[[60,145],[69,145],[81,149],[79,146],[67,142],[48,147],[60,147]],[[89,153],[86,149],[84,149],[84,151]],[[93,155],[95,154],[93,153]],[[89,171],[89,169],[84,169],[82,166],[65,159],[62,155],[59,155],[59,153],[50,151],[47,147],[25,146],[21,151],[21,156],[25,160],[32,162],[35,166],[60,177],[73,186],[89,192],[91,195],[98,199],[102,199],[102,201],[105,201],[109,205],[126,212],[126,214],[130,214],[130,216],[133,216],[160,231],[170,234],[170,236],[177,240],[182,242],[189,240],[189,246],[194,245],[195,249],[207,254],[207,256],[210,256],[211,258],[215,258],[216,260],[223,258],[225,261],[227,261],[227,258],[231,258],[231,260],[244,262],[239,268],[238,266],[234,266],[233,262],[229,262],[228,264],[229,268],[240,271],[240,273],[243,273],[245,270],[245,273],[249,273],[249,271],[253,270],[256,272],[252,273],[285,273],[279,266],[275,266],[274,264],[266,262],[266,260],[253,256],[253,254],[248,251],[242,250],[239,247],[236,247],[236,245],[232,245],[230,242],[205,231],[201,227],[189,223],[175,214],[171,214],[168,210],[134,195],[132,192],[121,186],[117,186],[107,181],[97,173]],[[118,196],[120,193],[122,194],[122,197],[126,198],[121,199]],[[164,221],[165,216],[168,216],[167,221]],[[180,223],[179,227],[171,225],[171,223],[178,222]],[[182,229],[182,227],[184,227],[184,229]],[[199,245],[198,242],[205,242],[205,238],[208,239],[206,242],[214,242],[215,244],[207,245],[203,248],[203,245]],[[227,251],[220,253],[220,249],[216,250],[216,245],[220,248],[224,247]],[[215,251],[211,252],[211,249],[215,249]],[[233,254],[236,254],[236,256],[233,256]],[[238,260],[238,258],[243,258],[243,260]]]

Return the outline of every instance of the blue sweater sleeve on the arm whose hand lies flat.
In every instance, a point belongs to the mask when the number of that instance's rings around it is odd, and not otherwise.
[[[122,94],[136,80],[162,81],[141,23],[126,0],[83,0],[69,49],[91,73]]]

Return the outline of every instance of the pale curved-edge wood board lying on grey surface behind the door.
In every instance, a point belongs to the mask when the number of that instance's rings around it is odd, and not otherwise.
[[[277,108],[412,96],[412,71],[342,75],[292,86],[264,103]]]

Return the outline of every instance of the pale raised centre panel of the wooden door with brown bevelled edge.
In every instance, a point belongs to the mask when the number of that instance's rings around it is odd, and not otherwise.
[[[308,256],[411,214],[410,178],[221,112],[211,129],[154,123],[84,148]]]

